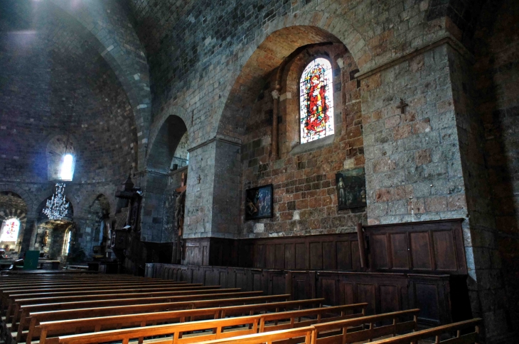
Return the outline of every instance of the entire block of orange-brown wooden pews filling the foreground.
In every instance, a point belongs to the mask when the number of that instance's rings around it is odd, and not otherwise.
[[[417,343],[431,337],[461,344],[478,338],[480,319],[417,331],[419,309],[367,316],[364,303],[323,306],[323,299],[262,294],[122,274],[0,276],[1,335],[6,344]]]

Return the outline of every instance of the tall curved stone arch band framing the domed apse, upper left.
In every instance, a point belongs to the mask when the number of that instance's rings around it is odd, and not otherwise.
[[[124,9],[114,1],[51,2],[92,35],[94,39],[90,43],[95,45],[100,55],[112,67],[126,91],[137,132],[143,134],[142,143],[146,143],[151,121],[148,63],[144,48]],[[138,161],[144,162],[144,145],[138,145],[138,149]]]

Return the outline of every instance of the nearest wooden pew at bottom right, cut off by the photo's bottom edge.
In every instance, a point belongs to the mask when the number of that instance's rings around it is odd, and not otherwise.
[[[414,344],[418,343],[419,340],[432,337],[434,337],[435,344],[473,344],[478,343],[480,324],[481,318],[475,318],[466,321],[459,321],[458,323],[449,323],[448,325],[428,328],[427,330],[407,333],[405,335],[397,335],[392,338],[376,340],[375,342],[372,342],[372,344]],[[466,330],[467,328],[470,328],[471,331],[462,335],[461,331]],[[454,338],[450,338],[449,334],[449,338],[442,339],[442,335],[454,332],[456,333]]]

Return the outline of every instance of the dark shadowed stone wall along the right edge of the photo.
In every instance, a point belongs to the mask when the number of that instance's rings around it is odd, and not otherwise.
[[[483,183],[491,192],[495,214],[494,235],[481,240],[481,264],[493,274],[483,280],[488,293],[498,294],[494,304],[481,298],[482,311],[505,309],[503,286],[508,304],[519,304],[519,4],[517,1],[491,1],[483,8],[474,35],[476,72],[474,86],[481,116],[484,140],[478,145],[484,153],[488,179]],[[504,284],[503,284],[504,283]],[[501,319],[519,327],[517,308],[502,313]]]

